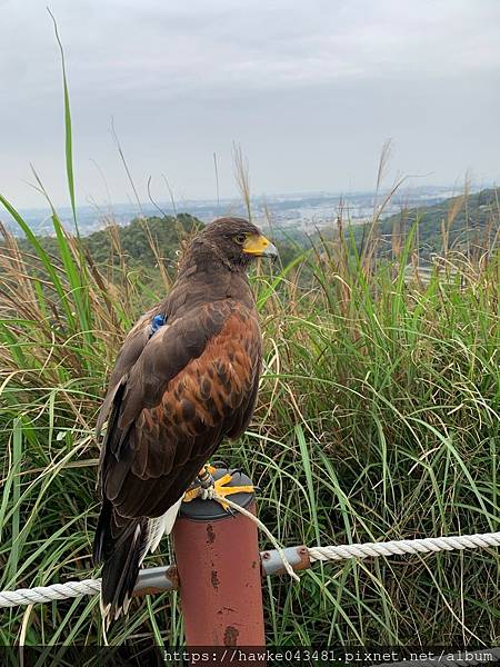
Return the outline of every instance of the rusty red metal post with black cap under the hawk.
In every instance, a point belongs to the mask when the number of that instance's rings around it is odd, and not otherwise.
[[[233,476],[233,486],[248,484],[244,475]],[[230,498],[256,512],[252,495]],[[212,500],[197,499],[182,505],[173,544],[188,647],[264,646],[256,524]]]

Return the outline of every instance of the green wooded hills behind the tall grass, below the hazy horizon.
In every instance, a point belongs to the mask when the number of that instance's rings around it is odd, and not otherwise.
[[[448,248],[468,251],[470,248],[490,247],[499,229],[500,209],[499,189],[488,189],[481,192],[453,197],[440,203],[402,210],[379,221],[378,233],[381,242],[377,252],[380,256],[390,256],[392,235],[399,233],[404,242],[411,226],[418,220],[418,248],[422,259],[428,259],[434,253],[443,251],[444,237],[448,236]],[[129,268],[140,269],[141,277],[148,282],[154,282],[157,277],[157,257],[151,249],[151,240],[158,249],[159,257],[166,263],[177,260],[176,252],[180,240],[188,238],[193,231],[200,229],[203,222],[189,213],[177,217],[163,218],[149,217],[136,218],[123,227],[102,229],[82,238],[83,246],[89,250],[96,263],[103,266],[119,266],[120,252],[127,260]],[[353,225],[351,232],[358,248],[370,237],[371,223]],[[264,230],[268,233],[268,230]],[[270,231],[273,235],[273,231]],[[280,250],[281,263],[286,266],[300,252],[300,248],[310,247],[308,236],[300,229],[288,233],[273,235]],[[313,235],[314,242],[318,235]],[[321,236],[333,238],[336,231],[322,231]],[[54,237],[39,237],[43,248],[58,257],[58,245]],[[28,241],[21,239],[21,249],[29,250]],[[33,267],[34,268],[34,267]],[[43,270],[40,268],[43,272]]]

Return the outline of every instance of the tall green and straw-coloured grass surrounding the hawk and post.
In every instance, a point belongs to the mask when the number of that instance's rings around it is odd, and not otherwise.
[[[73,201],[66,78],[64,109]],[[97,266],[56,211],[49,252],[0,201],[27,236],[21,250],[4,232],[0,249],[0,589],[13,589],[96,574],[96,415],[126,331],[174,268],[161,285],[142,283],[113,229],[113,257]],[[361,253],[342,232],[252,276],[266,340],[260,398],[246,437],[218,456],[259,485],[260,517],[287,546],[499,526],[498,251],[447,248],[423,282],[407,269],[418,266],[414,233],[382,261],[373,231]],[[147,564],[169,559],[163,541]],[[318,565],[300,584],[263,583],[268,641],[496,646],[498,587],[496,549]],[[0,618],[4,644],[102,640],[96,598]],[[109,639],[181,644],[177,594],[133,601]]]

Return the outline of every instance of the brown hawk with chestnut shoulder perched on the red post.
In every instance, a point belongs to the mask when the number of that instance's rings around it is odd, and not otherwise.
[[[262,340],[247,270],[272,255],[248,220],[214,220],[121,347],[97,427],[108,420],[93,548],[107,623],[127,611],[146,554],[172,529],[200,469],[252,416]]]

